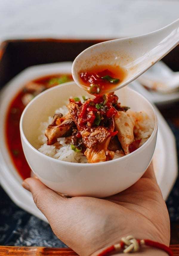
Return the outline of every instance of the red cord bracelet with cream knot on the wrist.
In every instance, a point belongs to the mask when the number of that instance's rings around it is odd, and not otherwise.
[[[120,243],[109,246],[103,252],[99,253],[98,256],[108,255],[111,252],[123,252],[123,253],[137,252],[139,251],[141,245],[146,245],[146,246],[151,246],[157,249],[161,249],[164,252],[168,253],[169,256],[173,256],[172,250],[166,245],[162,243],[154,242],[149,239],[142,239],[142,240],[135,239],[131,235],[127,236],[126,238],[124,237],[121,238]]]

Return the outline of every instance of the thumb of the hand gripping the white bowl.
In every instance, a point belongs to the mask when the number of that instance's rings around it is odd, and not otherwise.
[[[33,195],[33,200],[38,209],[45,215],[48,220],[54,217],[57,205],[67,203],[68,199],[49,189],[37,178],[27,178],[23,181],[22,186],[29,190]],[[65,207],[59,207],[63,210]],[[59,212],[58,212],[59,214]]]

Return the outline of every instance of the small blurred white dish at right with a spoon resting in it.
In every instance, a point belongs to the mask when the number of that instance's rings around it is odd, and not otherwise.
[[[170,78],[175,72],[173,72],[163,61],[159,61],[154,66],[152,66],[149,70],[147,70],[143,75],[143,79],[147,78],[155,78],[156,76],[161,77],[161,79]],[[140,78],[138,78],[140,81]],[[146,97],[149,101],[158,104],[165,105],[172,102],[179,101],[179,91],[170,92],[170,93],[161,93],[156,91],[149,91],[145,89],[141,84],[133,88],[136,91],[140,92],[144,97]]]

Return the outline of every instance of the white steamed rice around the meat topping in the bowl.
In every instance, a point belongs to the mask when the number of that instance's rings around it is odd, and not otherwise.
[[[142,139],[140,146],[146,142],[154,129],[154,123],[149,119],[145,112],[128,112],[135,118],[134,135],[135,139]],[[68,109],[66,106],[60,107],[55,113],[62,113],[66,115]],[[45,129],[53,121],[53,117],[49,116],[47,122],[41,122],[39,127],[38,141],[41,147],[38,149],[41,153],[53,157],[58,160],[73,162],[73,163],[87,163],[87,158],[81,152],[75,152],[71,149],[71,141],[68,138],[58,138],[53,145],[47,145],[47,138],[45,136]],[[117,150],[113,159],[124,156],[122,150]]]

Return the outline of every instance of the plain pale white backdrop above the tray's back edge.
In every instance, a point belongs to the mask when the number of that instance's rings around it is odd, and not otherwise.
[[[116,38],[179,18],[178,0],[0,0],[0,41],[8,38]]]

